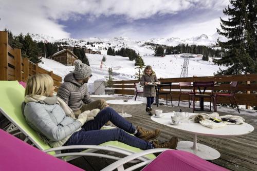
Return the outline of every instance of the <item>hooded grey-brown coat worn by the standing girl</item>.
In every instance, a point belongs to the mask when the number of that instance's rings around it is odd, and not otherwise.
[[[151,73],[151,75],[144,73],[140,79],[140,85],[144,86],[143,88],[144,97],[156,97],[155,86],[145,85],[145,82],[150,82],[150,83],[159,82],[154,71]]]

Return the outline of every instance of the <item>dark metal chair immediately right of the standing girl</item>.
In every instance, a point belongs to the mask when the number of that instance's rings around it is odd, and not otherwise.
[[[172,95],[171,95],[171,82],[166,82],[166,83],[161,83],[159,85],[155,86],[155,91],[156,91],[156,99],[155,103],[157,104],[157,107],[159,105],[159,95],[166,95],[166,105],[168,105],[168,94],[171,96],[171,106],[172,105]],[[164,89],[169,89],[168,91],[164,91]]]

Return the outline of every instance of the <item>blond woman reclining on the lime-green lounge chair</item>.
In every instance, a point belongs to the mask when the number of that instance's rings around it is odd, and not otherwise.
[[[49,75],[35,74],[27,81],[24,101],[27,123],[42,134],[51,147],[99,145],[117,140],[140,149],[176,148],[177,138],[163,144],[150,142],[159,136],[159,129],[147,131],[135,127],[111,107],[84,111],[76,119],[67,104],[53,95],[54,88]],[[118,128],[100,130],[107,121]]]

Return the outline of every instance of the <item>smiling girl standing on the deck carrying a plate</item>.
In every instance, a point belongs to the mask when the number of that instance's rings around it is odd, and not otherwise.
[[[148,65],[144,68],[144,72],[141,77],[140,84],[144,86],[144,89],[143,89],[144,97],[146,97],[147,99],[145,111],[148,112],[150,116],[153,115],[151,105],[154,103],[154,97],[156,97],[155,86],[152,85],[154,83],[159,84],[159,81],[152,67]]]

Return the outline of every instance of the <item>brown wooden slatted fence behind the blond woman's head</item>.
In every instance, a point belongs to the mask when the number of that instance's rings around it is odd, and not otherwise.
[[[49,74],[54,82],[54,86],[62,84],[62,78],[47,71],[28,60],[22,58],[21,49],[12,48],[8,44],[8,33],[0,31],[0,80],[17,80],[26,82],[30,75],[36,73]]]

